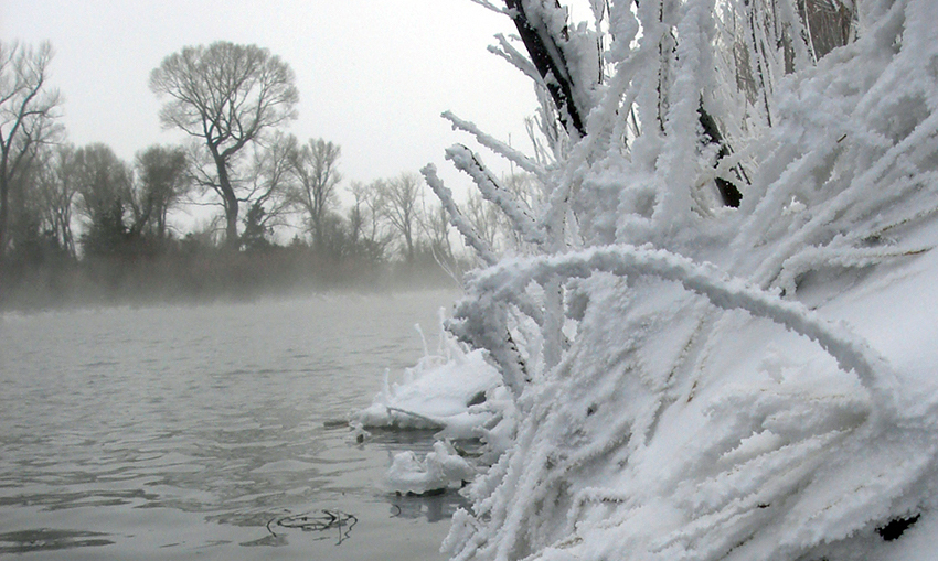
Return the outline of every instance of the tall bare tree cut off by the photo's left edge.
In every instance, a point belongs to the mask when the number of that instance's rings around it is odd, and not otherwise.
[[[0,41],[0,257],[7,248],[10,188],[39,145],[58,132],[58,91],[46,88],[52,45]]]

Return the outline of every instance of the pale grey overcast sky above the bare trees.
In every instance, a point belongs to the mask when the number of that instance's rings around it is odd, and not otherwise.
[[[186,45],[254,43],[296,73],[299,119],[288,131],[339,143],[340,171],[362,182],[428,162],[449,169],[444,150],[470,139],[439,117],[447,109],[529,149],[533,89],[486,51],[512,31],[470,0],[0,0],[3,41],[52,42],[51,84],[75,144],[104,142],[130,161],[181,141],[160,128],[150,71]]]

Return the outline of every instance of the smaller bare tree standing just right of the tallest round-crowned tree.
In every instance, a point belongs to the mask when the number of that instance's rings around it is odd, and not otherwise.
[[[290,199],[306,215],[312,247],[322,249],[326,218],[335,203],[335,187],[342,180],[338,171],[339,144],[322,139],[309,139],[294,151],[290,169],[297,179]]]

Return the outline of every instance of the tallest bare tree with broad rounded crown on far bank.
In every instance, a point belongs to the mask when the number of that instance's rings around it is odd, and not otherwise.
[[[296,118],[294,82],[290,67],[266,48],[227,42],[185,47],[150,74],[150,89],[170,98],[160,111],[163,127],[204,142],[211,157],[216,176],[209,186],[222,199],[230,248],[238,246],[241,202],[233,158],[265,130]]]

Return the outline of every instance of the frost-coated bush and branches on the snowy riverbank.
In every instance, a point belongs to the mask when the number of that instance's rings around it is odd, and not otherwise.
[[[476,1],[518,26],[535,152],[445,117],[546,191],[447,152],[502,257],[424,170],[482,265],[449,328],[512,397],[446,549],[938,554],[938,2]]]

